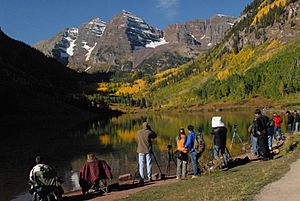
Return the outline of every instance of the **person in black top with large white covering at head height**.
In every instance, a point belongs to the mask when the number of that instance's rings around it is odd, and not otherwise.
[[[226,149],[226,137],[227,137],[227,128],[225,127],[225,124],[222,120],[222,117],[213,117],[212,118],[212,132],[213,135],[213,151],[214,151],[214,158],[215,160],[220,160],[219,158],[219,152],[221,152],[221,155],[224,160],[224,164],[227,167],[227,157],[225,154]]]

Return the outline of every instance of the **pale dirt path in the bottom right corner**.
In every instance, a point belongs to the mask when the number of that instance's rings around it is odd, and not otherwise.
[[[300,200],[300,159],[291,164],[291,169],[281,179],[265,186],[254,198],[255,201]]]

